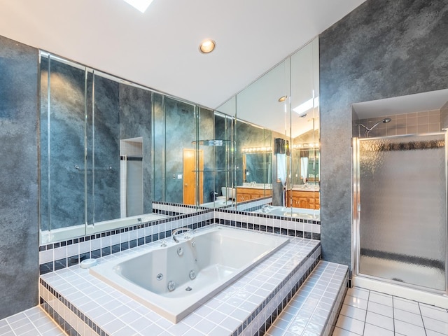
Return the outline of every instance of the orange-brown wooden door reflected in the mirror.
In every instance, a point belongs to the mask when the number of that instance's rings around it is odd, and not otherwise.
[[[199,174],[199,203],[204,200],[204,193],[202,191],[202,172],[195,172],[195,150],[183,148],[183,204],[195,205],[195,191],[196,191],[196,174]],[[199,170],[204,169],[204,160],[202,151],[199,151]]]

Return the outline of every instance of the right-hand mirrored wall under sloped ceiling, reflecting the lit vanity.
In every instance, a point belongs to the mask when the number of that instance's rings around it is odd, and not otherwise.
[[[316,38],[218,108],[237,116],[237,202],[272,197],[263,212],[320,218],[318,102]]]

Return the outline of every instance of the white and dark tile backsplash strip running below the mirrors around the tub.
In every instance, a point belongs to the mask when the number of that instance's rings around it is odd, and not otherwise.
[[[164,218],[129,228],[121,228],[42,245],[39,247],[40,274],[76,265],[87,258],[101,258],[129,248],[149,244],[152,241],[167,239],[171,236],[172,230],[184,226],[196,229],[213,223],[220,223],[237,228],[272,232],[290,237],[321,239],[321,225],[319,221],[283,218],[265,214],[248,214],[241,211],[228,210],[214,211],[213,209],[207,209],[197,212],[195,207],[163,204],[162,202],[155,202],[153,209],[169,214],[179,214],[179,212],[186,212],[186,210],[192,212],[176,216],[176,218]]]

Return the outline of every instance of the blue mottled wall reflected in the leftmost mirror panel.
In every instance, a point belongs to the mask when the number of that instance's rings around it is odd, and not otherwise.
[[[49,71],[50,78],[48,78]],[[84,223],[84,73],[82,69],[54,59],[41,59],[41,227],[43,230]],[[50,86],[50,94],[48,94],[48,86]],[[49,123],[48,102],[50,104]],[[50,161],[48,161],[48,153],[50,153]],[[48,169],[49,162],[50,169]]]

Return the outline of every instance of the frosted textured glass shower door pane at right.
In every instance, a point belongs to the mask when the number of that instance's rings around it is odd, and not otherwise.
[[[359,273],[446,290],[445,135],[358,140]]]

